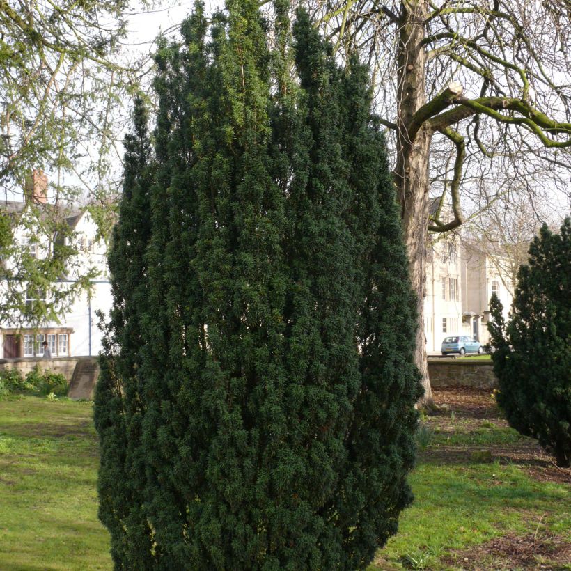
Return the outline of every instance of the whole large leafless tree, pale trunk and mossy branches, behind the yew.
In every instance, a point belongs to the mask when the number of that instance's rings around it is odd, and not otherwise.
[[[298,0],[340,58],[371,67],[423,335],[428,231],[454,230],[496,201],[569,208],[568,0]],[[429,196],[440,197],[430,209]],[[522,198],[524,197],[524,198]],[[533,207],[535,208],[535,207]],[[535,208],[538,211],[537,208]]]

